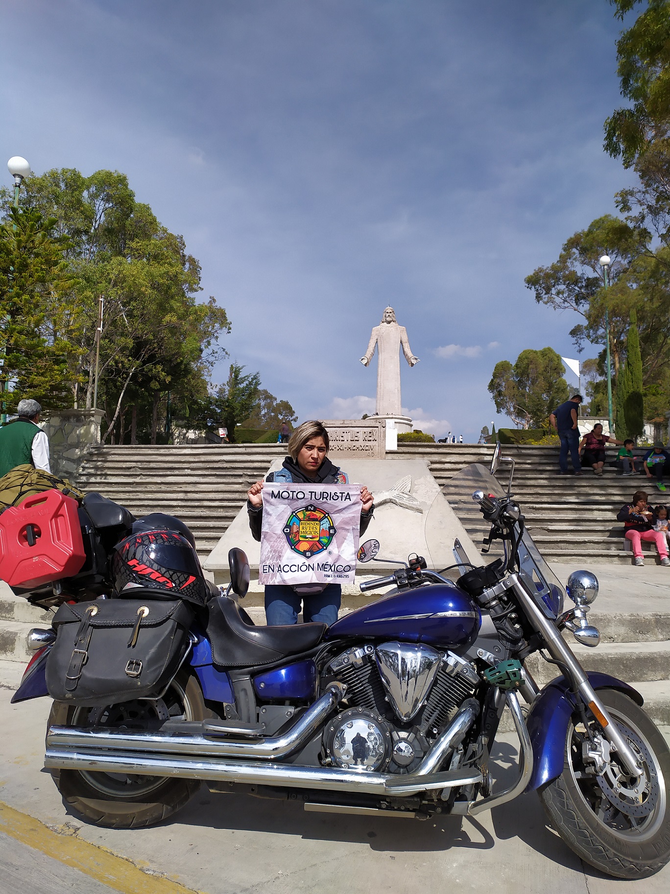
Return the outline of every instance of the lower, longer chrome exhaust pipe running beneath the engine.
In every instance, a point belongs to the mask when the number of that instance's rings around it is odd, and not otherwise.
[[[354,772],[332,767],[305,767],[284,763],[254,763],[214,757],[130,755],[119,752],[86,752],[47,747],[45,767],[49,770],[138,773],[143,776],[178,776],[292,789],[328,789],[361,792],[382,797],[405,797],[431,789],[454,789],[482,781],[477,770],[433,773],[421,779],[387,773]]]

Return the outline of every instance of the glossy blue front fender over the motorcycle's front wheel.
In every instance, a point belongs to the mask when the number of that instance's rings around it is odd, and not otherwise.
[[[640,693],[623,680],[607,673],[587,672],[587,677],[594,689],[618,689],[636,704],[644,702]],[[531,738],[533,765],[526,791],[540,789],[563,772],[565,737],[574,707],[575,696],[565,677],[552,679],[532,703],[526,726]]]

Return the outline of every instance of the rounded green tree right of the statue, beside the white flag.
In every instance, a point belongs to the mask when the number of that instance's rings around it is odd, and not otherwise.
[[[552,348],[523,350],[514,366],[508,360],[496,364],[489,392],[498,413],[521,428],[539,428],[557,404],[568,399],[563,361]]]

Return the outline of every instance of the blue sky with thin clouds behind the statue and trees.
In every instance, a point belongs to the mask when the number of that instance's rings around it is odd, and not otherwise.
[[[301,419],[373,409],[376,359],[358,358],[387,303],[421,358],[402,361],[403,406],[434,434],[504,422],[499,359],[577,356],[576,320],[523,278],[632,179],[602,151],[621,104],[607,0],[0,12],[0,159],[127,173],[200,259],[230,358]]]

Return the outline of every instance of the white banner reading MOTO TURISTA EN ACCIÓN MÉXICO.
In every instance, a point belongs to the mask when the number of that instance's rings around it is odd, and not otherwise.
[[[260,584],[352,584],[360,485],[263,485]]]

